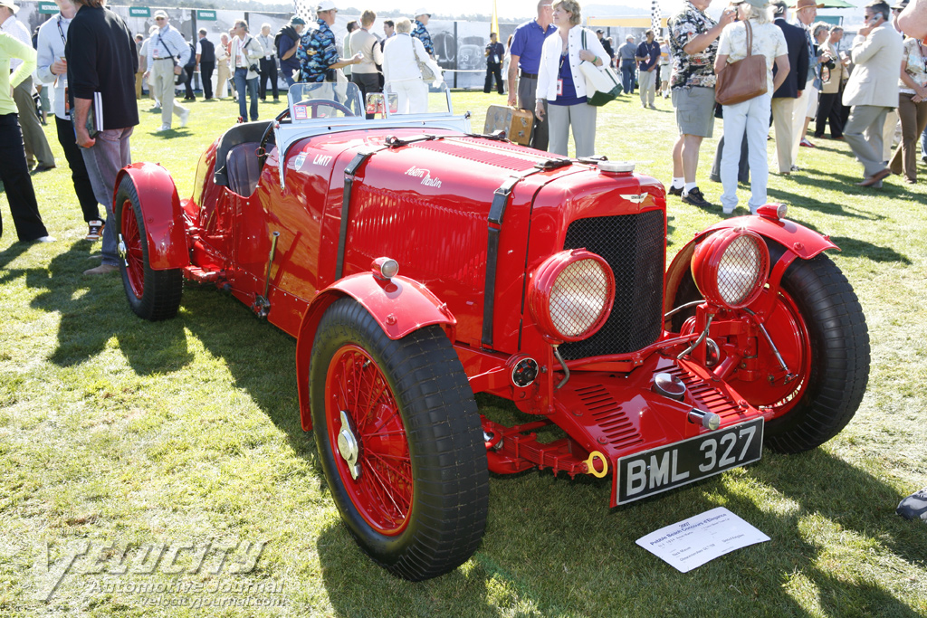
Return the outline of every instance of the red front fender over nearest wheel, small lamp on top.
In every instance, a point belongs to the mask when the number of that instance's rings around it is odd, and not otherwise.
[[[447,329],[457,319],[425,285],[408,277],[377,279],[370,272],[351,275],[322,290],[312,300],[299,324],[296,343],[296,373],[299,391],[299,418],[304,431],[312,428],[309,401],[309,362],[315,333],[325,309],[338,298],[350,296],[374,317],[390,339],[401,339],[425,326],[442,324]]]

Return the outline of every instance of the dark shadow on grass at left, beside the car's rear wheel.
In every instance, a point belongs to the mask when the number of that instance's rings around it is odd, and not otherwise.
[[[58,345],[51,362],[61,367],[79,365],[100,354],[111,337],[119,341],[133,371],[139,375],[176,371],[193,359],[187,349],[184,324],[179,321],[146,322],[129,310],[118,273],[84,276],[96,265],[88,262],[86,241],[78,241],[58,254],[44,269],[19,271],[26,284],[41,290],[32,307],[60,316]],[[152,349],[152,334],[160,346]]]

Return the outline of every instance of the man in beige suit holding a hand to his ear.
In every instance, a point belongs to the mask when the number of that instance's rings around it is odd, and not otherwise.
[[[865,180],[859,186],[881,187],[891,170],[883,164],[883,125],[889,110],[898,107],[898,67],[901,35],[891,26],[891,9],[882,0],[865,8],[866,18],[850,57],[855,68],[844,90],[844,105],[853,107],[844,139],[863,164]],[[867,141],[863,132],[870,130]]]

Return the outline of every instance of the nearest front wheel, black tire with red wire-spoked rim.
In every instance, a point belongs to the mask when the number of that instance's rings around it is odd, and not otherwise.
[[[342,366],[349,371],[342,372]],[[351,381],[342,381],[342,373]],[[386,388],[374,381],[377,376]],[[473,391],[440,327],[429,326],[393,341],[359,303],[342,298],[325,311],[319,324],[309,377],[323,472],[341,517],[363,551],[390,573],[411,581],[437,577],[467,561],[486,528],[489,473]],[[342,387],[330,388],[329,380]],[[349,391],[356,406],[342,402],[338,391]],[[366,397],[367,391],[376,398]],[[366,404],[357,403],[361,400]],[[337,432],[345,429],[345,423],[336,420],[339,409],[348,409],[351,436],[356,434],[360,445],[360,473],[355,478],[348,473],[352,460],[341,449],[345,443],[337,443]],[[390,444],[402,443],[408,449],[408,464],[396,473],[399,481],[390,475],[392,482],[383,492],[388,500],[365,493],[362,486],[376,478],[371,472],[378,459],[373,445],[380,439],[377,430],[364,431],[371,425],[384,427],[373,411],[366,410],[381,409],[394,410],[381,412],[395,423],[387,427],[393,431],[383,434],[391,436]],[[395,419],[397,410],[401,424]],[[379,470],[390,473],[384,467]],[[402,496],[393,498],[391,489],[397,494],[408,489],[408,503]],[[384,513],[384,519],[371,523]],[[391,516],[392,528],[382,523]]]

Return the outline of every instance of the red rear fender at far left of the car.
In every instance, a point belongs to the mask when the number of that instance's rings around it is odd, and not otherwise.
[[[186,244],[184,211],[171,174],[157,163],[133,163],[116,176],[117,192],[125,176],[132,179],[142,208],[151,268],[166,271],[188,266],[190,252]],[[114,195],[113,211],[117,208]]]

